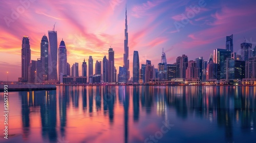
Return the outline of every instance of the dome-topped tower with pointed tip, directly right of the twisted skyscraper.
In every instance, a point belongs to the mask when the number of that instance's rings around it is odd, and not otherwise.
[[[66,45],[65,42],[63,41],[63,39],[60,41],[59,44],[59,60],[58,60],[59,64],[59,81],[60,81],[60,77],[62,76],[66,76],[67,75],[67,49],[66,49]]]

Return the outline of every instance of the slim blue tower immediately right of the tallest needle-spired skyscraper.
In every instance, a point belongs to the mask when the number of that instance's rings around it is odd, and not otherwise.
[[[140,61],[139,61],[139,53],[138,51],[133,52],[133,82],[139,83],[139,69],[140,69]]]

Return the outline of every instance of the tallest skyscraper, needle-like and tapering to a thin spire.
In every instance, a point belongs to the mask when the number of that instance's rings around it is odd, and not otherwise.
[[[129,46],[128,46],[128,32],[127,31],[128,31],[128,26],[127,26],[127,10],[125,8],[123,67],[125,67],[127,69],[126,78],[128,80],[130,78],[130,70],[129,70]]]

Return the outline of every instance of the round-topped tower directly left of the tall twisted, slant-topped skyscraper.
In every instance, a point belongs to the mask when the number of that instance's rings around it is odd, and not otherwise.
[[[44,80],[48,80],[48,47],[49,42],[46,35],[42,36],[41,39],[41,63],[42,63],[42,74]]]

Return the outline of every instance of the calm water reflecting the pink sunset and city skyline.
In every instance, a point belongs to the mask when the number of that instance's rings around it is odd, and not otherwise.
[[[0,142],[255,142],[255,96],[240,86],[9,92],[9,139],[1,133]]]

